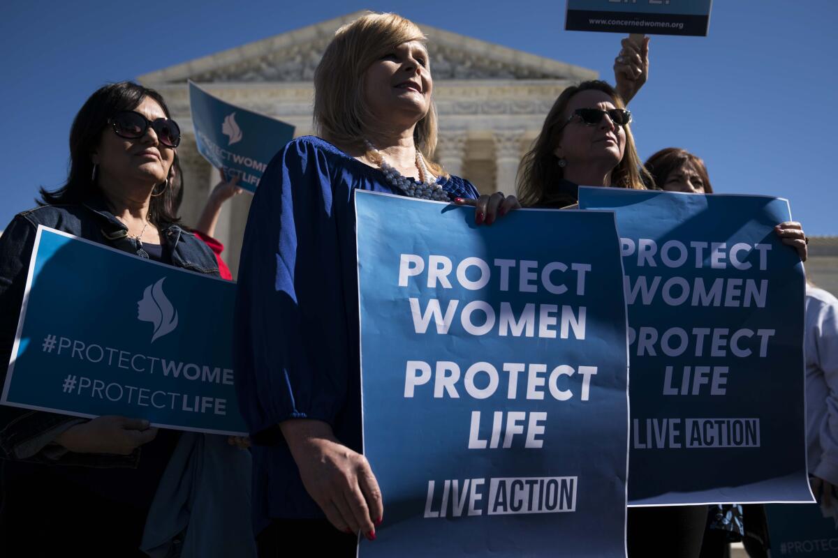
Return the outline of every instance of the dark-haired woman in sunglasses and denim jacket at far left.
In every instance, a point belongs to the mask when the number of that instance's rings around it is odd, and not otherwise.
[[[40,207],[19,213],[0,237],[0,383],[39,225],[218,275],[209,248],[178,226],[170,179],[179,141],[163,98],[141,85],[106,85],[81,107],[65,186],[42,189]],[[134,417],[0,407],[0,555],[145,555],[147,514],[180,439]]]

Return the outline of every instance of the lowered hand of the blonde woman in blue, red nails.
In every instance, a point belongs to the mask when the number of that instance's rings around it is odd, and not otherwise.
[[[360,532],[375,540],[384,503],[366,458],[339,443],[326,422],[292,419],[279,426],[303,486],[329,522],[346,533]]]

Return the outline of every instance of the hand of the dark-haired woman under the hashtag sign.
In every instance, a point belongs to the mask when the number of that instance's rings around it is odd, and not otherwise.
[[[151,442],[157,432],[157,428],[148,427],[147,420],[107,415],[68,428],[55,442],[75,453],[130,455]]]

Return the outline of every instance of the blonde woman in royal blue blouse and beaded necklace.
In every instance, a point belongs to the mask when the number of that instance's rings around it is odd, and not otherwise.
[[[254,441],[263,556],[292,538],[310,555],[354,555],[354,534],[375,539],[384,513],[360,454],[353,190],[473,200],[475,221],[487,224],[517,206],[499,193],[478,197],[432,161],[430,60],[410,21],[370,13],[340,28],[314,90],[319,137],[274,157],[241,252],[237,387]]]

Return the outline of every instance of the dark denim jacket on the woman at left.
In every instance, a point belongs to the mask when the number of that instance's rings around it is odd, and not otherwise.
[[[18,213],[0,236],[0,386],[4,385],[29,259],[38,225],[74,234],[113,248],[136,253],[137,240],[106,208],[100,198],[88,202],[44,206]],[[175,267],[219,275],[212,251],[178,225],[160,228],[163,250]],[[139,256],[137,256],[139,257]],[[0,458],[88,467],[136,467],[139,448],[128,456],[72,453],[50,443],[67,428],[85,419],[0,405]]]

